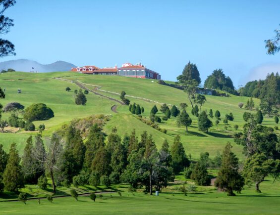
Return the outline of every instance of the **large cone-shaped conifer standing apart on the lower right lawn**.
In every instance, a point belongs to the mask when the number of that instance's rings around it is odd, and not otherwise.
[[[221,169],[215,181],[215,186],[224,189],[228,196],[234,196],[233,191],[240,192],[244,186],[244,178],[238,172],[238,158],[231,148],[229,142],[224,147]]]

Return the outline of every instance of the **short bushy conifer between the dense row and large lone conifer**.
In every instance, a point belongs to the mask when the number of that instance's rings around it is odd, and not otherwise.
[[[210,177],[208,176],[207,168],[202,161],[195,164],[191,173],[191,179],[193,179],[199,186],[210,185]]]

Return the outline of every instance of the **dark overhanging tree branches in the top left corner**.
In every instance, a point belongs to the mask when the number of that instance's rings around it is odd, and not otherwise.
[[[4,16],[4,11],[15,4],[15,0],[1,0],[0,1],[0,35],[5,35],[13,26],[13,20]],[[8,55],[15,55],[14,44],[8,40],[0,39],[0,57]]]

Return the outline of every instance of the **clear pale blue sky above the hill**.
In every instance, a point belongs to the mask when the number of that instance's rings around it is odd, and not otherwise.
[[[3,38],[42,64],[118,67],[141,62],[176,81],[190,61],[202,84],[222,68],[236,88],[280,72],[264,41],[280,28],[280,0],[17,0]]]

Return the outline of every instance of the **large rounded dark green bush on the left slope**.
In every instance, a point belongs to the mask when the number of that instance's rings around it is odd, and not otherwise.
[[[36,103],[30,105],[25,109],[23,118],[28,121],[39,121],[39,120],[49,120],[55,117],[54,112],[51,108],[43,103]]]

